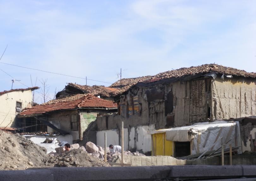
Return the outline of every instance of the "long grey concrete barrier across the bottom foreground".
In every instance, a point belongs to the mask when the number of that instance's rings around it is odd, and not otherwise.
[[[53,167],[23,171],[0,171],[0,180],[256,180],[256,166],[131,166]]]

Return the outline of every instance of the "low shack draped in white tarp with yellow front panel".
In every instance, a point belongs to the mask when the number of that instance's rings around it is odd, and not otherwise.
[[[169,141],[170,144],[172,144],[173,152],[171,152],[171,155],[176,155],[174,152],[177,152],[178,150],[176,150],[175,147],[176,143],[179,142],[190,142],[189,153],[191,155],[219,149],[222,146],[222,142],[224,144],[224,149],[228,148],[229,144],[231,144],[232,147],[240,146],[238,153],[242,153],[241,135],[238,121],[196,123],[191,126],[148,131],[148,134],[152,135],[152,152],[154,152],[154,155],[159,155],[156,154],[159,153],[159,149],[168,150],[168,148],[165,148],[166,141]],[[163,137],[163,135],[164,139],[161,140],[157,138],[159,136]],[[164,151],[162,151],[162,153],[163,154],[161,155],[166,155]]]

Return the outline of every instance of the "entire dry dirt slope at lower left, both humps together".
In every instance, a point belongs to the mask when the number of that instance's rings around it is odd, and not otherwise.
[[[29,167],[110,166],[81,149],[51,157],[46,149],[18,134],[0,130],[0,170],[24,170]]]

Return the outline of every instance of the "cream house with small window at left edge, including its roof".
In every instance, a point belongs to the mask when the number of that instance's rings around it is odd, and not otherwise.
[[[0,92],[0,127],[16,127],[16,115],[25,108],[31,108],[32,91],[39,87],[12,89]]]

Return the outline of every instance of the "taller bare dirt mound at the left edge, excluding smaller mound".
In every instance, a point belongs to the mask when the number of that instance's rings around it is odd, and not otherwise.
[[[43,167],[48,156],[46,149],[19,134],[0,130],[0,170],[24,170]]]

